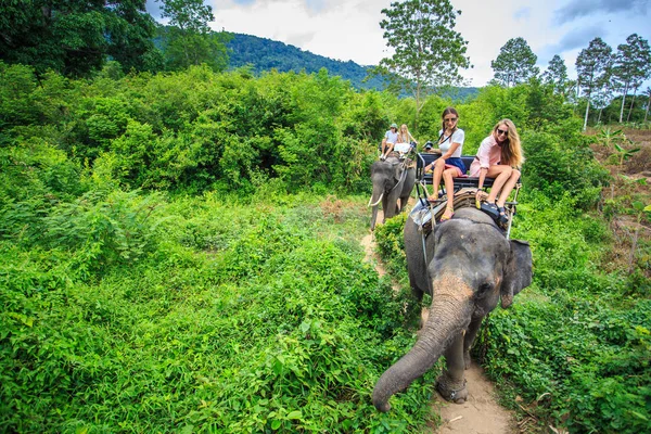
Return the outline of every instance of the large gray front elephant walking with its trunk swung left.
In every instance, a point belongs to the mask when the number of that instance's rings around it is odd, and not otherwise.
[[[426,322],[414,346],[386,370],[373,390],[373,405],[388,411],[388,399],[425,373],[444,355],[447,369],[437,380],[447,400],[468,397],[463,370],[470,366],[470,347],[484,316],[501,297],[508,307],[513,296],[532,282],[528,243],[507,240],[486,214],[460,208],[426,239],[412,218],[405,222],[405,251],[409,282],[417,298],[432,295]],[[432,292],[433,290],[433,292]]]

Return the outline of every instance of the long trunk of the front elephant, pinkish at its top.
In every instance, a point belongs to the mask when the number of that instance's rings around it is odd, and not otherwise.
[[[446,284],[446,286],[442,286]],[[434,366],[448,345],[468,328],[472,314],[472,290],[460,279],[443,278],[433,282],[430,316],[416,345],[378,380],[373,390],[373,405],[388,411],[388,399],[407,388]],[[436,291],[442,288],[443,291]]]

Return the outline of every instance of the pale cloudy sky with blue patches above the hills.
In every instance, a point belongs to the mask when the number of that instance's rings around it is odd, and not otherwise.
[[[214,30],[225,29],[281,41],[327,58],[376,65],[393,53],[380,22],[391,0],[204,0],[213,8]],[[161,22],[158,4],[148,11]],[[600,37],[616,52],[631,34],[651,39],[651,0],[451,0],[461,11],[455,30],[468,41],[472,68],[468,86],[493,78],[494,61],[511,38],[524,38],[544,72],[559,54],[575,78],[580,50]],[[648,80],[646,86],[651,85]]]

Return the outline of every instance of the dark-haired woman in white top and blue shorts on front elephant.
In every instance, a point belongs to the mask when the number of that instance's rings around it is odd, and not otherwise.
[[[441,115],[443,128],[438,131],[438,149],[442,152],[439,158],[425,167],[425,171],[434,170],[432,176],[433,194],[427,197],[430,202],[438,200],[438,187],[441,178],[445,180],[445,191],[447,193],[447,205],[445,213],[441,216],[441,221],[449,220],[455,215],[455,179],[465,175],[465,165],[461,159],[463,141],[465,132],[457,127],[459,113],[454,107],[447,107]]]

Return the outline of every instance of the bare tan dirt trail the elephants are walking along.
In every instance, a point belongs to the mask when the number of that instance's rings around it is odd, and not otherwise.
[[[379,213],[380,214],[380,213]],[[382,216],[378,216],[382,221]],[[365,260],[375,264],[375,270],[380,276],[386,271],[375,255],[375,240],[369,233],[361,240],[366,252]],[[423,311],[424,316],[424,311]],[[450,404],[438,394],[432,398],[432,408],[443,419],[443,424],[437,431],[427,430],[427,433],[448,434],[515,434],[515,418],[513,413],[500,407],[495,398],[495,388],[484,375],[484,369],[472,362],[465,371],[468,380],[468,400],[464,404]]]

